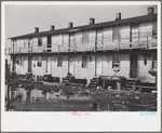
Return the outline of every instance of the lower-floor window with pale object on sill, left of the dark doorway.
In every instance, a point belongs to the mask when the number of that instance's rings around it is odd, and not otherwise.
[[[114,70],[120,69],[120,55],[119,54],[113,54],[112,55],[112,68]]]

